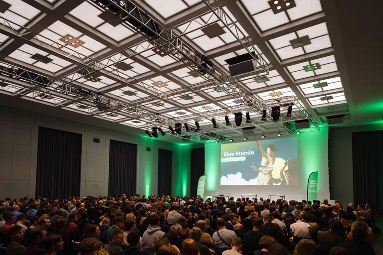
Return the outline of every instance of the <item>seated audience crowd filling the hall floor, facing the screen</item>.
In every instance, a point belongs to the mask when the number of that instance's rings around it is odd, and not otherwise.
[[[6,255],[375,255],[374,205],[224,197],[7,198]]]

